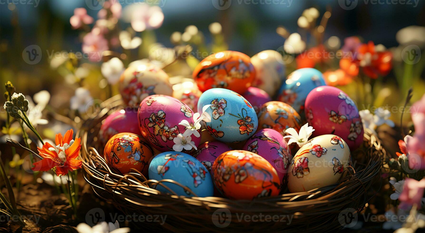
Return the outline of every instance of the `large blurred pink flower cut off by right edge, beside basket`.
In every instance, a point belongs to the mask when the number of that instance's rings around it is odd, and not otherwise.
[[[425,94],[418,102],[414,103],[412,121],[415,126],[414,136],[406,136],[409,167],[414,170],[425,169]]]

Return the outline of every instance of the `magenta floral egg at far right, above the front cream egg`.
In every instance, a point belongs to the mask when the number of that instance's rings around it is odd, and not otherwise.
[[[306,99],[306,119],[313,126],[313,136],[335,134],[351,150],[363,143],[363,124],[354,101],[332,86],[314,88]]]

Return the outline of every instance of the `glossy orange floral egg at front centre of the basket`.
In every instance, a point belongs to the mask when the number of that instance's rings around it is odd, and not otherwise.
[[[222,153],[215,159],[211,173],[215,187],[229,199],[276,196],[281,188],[275,168],[250,151]]]

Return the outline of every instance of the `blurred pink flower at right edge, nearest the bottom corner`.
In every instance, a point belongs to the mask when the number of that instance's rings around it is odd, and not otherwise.
[[[424,195],[424,188],[425,178],[422,178],[420,181],[406,178],[403,185],[403,191],[399,196],[399,207],[402,209],[408,209],[412,207],[412,205],[416,204],[419,209],[422,205],[421,202]]]

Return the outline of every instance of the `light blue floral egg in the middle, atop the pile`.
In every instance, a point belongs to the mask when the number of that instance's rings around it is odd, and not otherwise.
[[[205,110],[211,122],[202,121],[211,136],[221,142],[242,142],[257,130],[257,115],[240,94],[223,88],[205,91],[198,101],[198,112]]]

